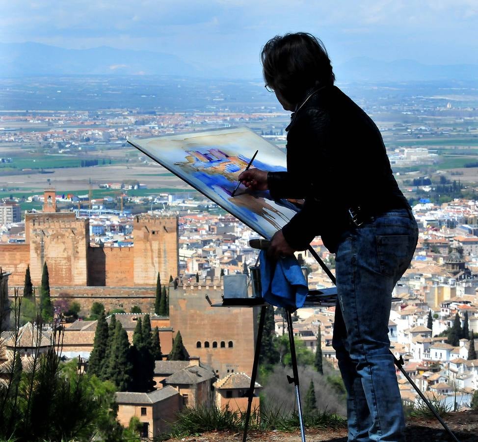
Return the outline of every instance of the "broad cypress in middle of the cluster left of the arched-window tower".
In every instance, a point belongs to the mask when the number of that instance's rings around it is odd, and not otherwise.
[[[128,333],[123,329],[121,322],[116,321],[106,379],[115,384],[118,391],[127,391],[132,383],[132,372],[133,362]]]

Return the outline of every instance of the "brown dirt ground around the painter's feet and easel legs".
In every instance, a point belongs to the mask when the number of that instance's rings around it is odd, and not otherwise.
[[[451,431],[460,442],[478,441],[478,411],[451,413],[444,418]],[[346,442],[346,429],[306,430],[307,442]],[[436,419],[409,418],[406,430],[407,442],[448,442],[451,437]],[[300,442],[300,432],[282,433],[279,431],[250,431],[248,441]],[[169,442],[228,442],[242,441],[242,433],[213,432],[183,439],[170,439]]]

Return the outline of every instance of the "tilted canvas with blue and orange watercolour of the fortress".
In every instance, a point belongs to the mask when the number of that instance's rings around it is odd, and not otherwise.
[[[239,173],[256,150],[251,168],[286,170],[285,154],[250,129],[132,138],[128,142],[267,239],[298,211],[295,201],[274,201],[268,191],[252,192],[242,185],[231,197]]]

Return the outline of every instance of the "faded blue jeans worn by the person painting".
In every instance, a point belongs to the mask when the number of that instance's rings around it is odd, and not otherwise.
[[[349,441],[405,440],[388,322],[392,291],[417,239],[413,215],[398,209],[350,227],[337,249],[332,345],[347,390]]]

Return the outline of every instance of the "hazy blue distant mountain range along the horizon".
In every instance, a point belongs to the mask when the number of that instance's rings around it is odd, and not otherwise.
[[[176,55],[99,47],[63,49],[40,43],[0,43],[0,77],[41,75],[173,75],[257,79],[260,66],[240,64],[222,69],[196,66]],[[368,57],[334,65],[339,82],[432,81],[478,79],[477,64],[426,65],[414,60],[384,62]]]

